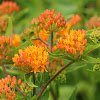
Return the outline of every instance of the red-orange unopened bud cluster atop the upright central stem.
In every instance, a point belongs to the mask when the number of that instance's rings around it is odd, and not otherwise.
[[[66,26],[66,20],[61,16],[61,12],[58,15],[55,14],[55,10],[46,10],[39,16],[39,18],[33,18],[31,21],[33,26],[37,26],[36,29],[45,30],[47,33],[61,31]]]

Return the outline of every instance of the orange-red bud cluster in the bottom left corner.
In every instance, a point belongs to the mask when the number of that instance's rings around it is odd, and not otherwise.
[[[2,78],[0,80],[0,98],[4,93],[7,100],[14,100],[16,97],[15,89],[14,89],[16,84],[17,84],[17,80],[15,76],[13,76],[12,79],[10,75],[8,75],[5,79]]]

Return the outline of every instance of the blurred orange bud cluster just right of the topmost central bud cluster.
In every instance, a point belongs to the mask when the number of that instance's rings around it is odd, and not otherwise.
[[[74,26],[78,22],[82,20],[81,16],[79,14],[73,15],[70,20],[66,23],[66,25]]]

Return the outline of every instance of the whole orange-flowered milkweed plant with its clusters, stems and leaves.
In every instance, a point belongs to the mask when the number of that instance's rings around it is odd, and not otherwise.
[[[6,75],[0,79],[0,100],[17,100],[18,93],[23,100],[44,100],[52,81],[66,81],[67,69],[75,69],[73,63],[92,63],[92,71],[100,71],[100,58],[90,55],[100,47],[98,28],[75,30],[73,26],[82,20],[79,14],[66,20],[61,12],[47,9],[31,20],[31,27],[20,35],[13,34],[10,16],[19,10],[13,1],[0,5],[0,66]],[[9,70],[16,68],[24,73],[24,80],[9,75],[6,69],[10,64]],[[27,94],[31,94],[30,99]]]

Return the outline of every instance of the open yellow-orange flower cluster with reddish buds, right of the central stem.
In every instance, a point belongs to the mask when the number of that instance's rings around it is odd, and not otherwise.
[[[69,57],[73,57],[74,55],[77,57],[82,55],[85,50],[85,45],[87,44],[87,39],[84,39],[85,35],[85,30],[72,30],[69,34],[64,35],[64,39],[60,37],[58,40],[59,43],[56,46],[60,50],[64,48]]]

